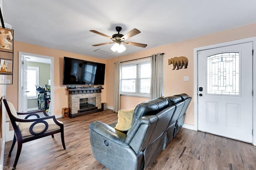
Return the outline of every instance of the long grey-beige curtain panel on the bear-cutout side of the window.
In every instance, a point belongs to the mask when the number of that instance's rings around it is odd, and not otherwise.
[[[164,55],[157,53],[151,56],[151,86],[150,100],[163,96],[163,77],[164,77]]]

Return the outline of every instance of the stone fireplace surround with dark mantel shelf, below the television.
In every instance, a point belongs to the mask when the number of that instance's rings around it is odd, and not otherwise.
[[[78,117],[82,115],[87,115],[91,113],[96,113],[102,111],[102,104],[101,104],[101,90],[104,88],[66,88],[68,91],[68,108],[69,113],[68,116],[70,118]],[[96,105],[93,109],[80,109],[80,102],[79,100],[82,98],[96,98]]]

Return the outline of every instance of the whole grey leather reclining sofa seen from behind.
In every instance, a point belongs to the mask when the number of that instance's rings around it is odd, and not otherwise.
[[[180,94],[138,104],[126,134],[93,121],[90,143],[94,158],[110,170],[146,169],[179,132],[190,100],[187,94]]]

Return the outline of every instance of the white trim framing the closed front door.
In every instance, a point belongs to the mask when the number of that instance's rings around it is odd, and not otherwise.
[[[218,48],[218,47],[225,47],[229,45],[236,45],[240,43],[248,43],[252,42],[253,44],[253,50],[256,49],[256,37],[250,37],[246,39],[240,39],[240,40],[235,40],[235,41],[229,41],[225,43],[219,43],[219,44],[214,44],[214,45],[208,45],[204,47],[198,47],[194,48],[194,130],[198,131],[198,60],[197,60],[197,52],[201,50],[207,50],[207,49],[213,49],[213,48]],[[254,55],[255,56],[255,55]],[[254,59],[253,56],[253,66],[256,66],[256,59]],[[253,74],[253,89],[254,91],[256,90],[256,69],[252,68],[252,74]],[[254,94],[252,100],[252,105],[256,106],[256,93]],[[256,132],[256,107],[252,108],[252,129],[254,132]],[[254,133],[254,136],[252,138],[252,144],[256,146],[256,134]]]

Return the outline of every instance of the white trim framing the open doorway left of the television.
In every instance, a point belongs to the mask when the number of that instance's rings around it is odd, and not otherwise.
[[[50,68],[51,68],[51,115],[54,115],[54,57],[50,57],[50,56],[45,56],[45,55],[38,55],[38,54],[32,54],[32,53],[25,53],[25,52],[21,52],[19,51],[19,79],[18,79],[18,98],[21,99],[21,56],[22,55],[27,55],[27,56],[34,56],[34,57],[40,57],[40,58],[44,58],[44,59],[50,59],[51,63],[50,63]],[[18,100],[18,111],[21,111],[22,108],[22,103],[20,100]],[[53,114],[52,114],[53,113]]]

